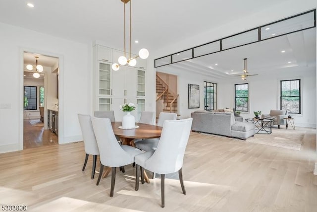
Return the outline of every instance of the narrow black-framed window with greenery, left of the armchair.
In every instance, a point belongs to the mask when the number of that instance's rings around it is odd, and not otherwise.
[[[249,84],[235,84],[234,90],[234,108],[236,111],[249,111]]]

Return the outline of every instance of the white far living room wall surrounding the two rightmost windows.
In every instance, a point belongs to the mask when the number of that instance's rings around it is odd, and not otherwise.
[[[249,76],[247,81],[239,77],[224,80],[218,86],[218,108],[234,107],[234,84],[249,83],[249,112],[241,116],[252,118],[253,111],[268,114],[270,109],[280,108],[279,83],[288,79],[301,79],[302,114],[291,114],[295,126],[316,128],[316,67],[272,70],[266,75]]]

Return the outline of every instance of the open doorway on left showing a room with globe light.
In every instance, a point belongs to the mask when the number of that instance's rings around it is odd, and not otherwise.
[[[23,149],[58,144],[59,59],[23,53]]]

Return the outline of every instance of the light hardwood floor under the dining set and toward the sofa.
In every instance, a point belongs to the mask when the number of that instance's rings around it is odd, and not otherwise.
[[[316,212],[316,129],[296,130],[306,131],[300,151],[192,132],[183,166],[187,194],[178,180],[166,179],[164,209],[160,179],[136,192],[132,165],[117,171],[109,197],[109,176],[99,186],[98,174],[90,179],[91,158],[81,171],[83,142],[3,153],[0,205],[38,212]]]

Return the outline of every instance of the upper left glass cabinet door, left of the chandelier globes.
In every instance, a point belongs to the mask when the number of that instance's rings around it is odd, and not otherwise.
[[[110,64],[99,63],[99,95],[111,95],[110,72]]]

